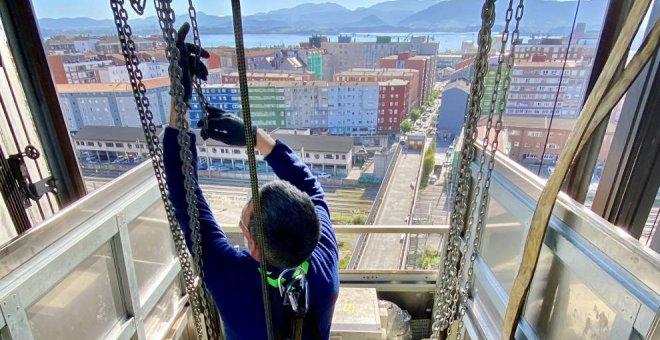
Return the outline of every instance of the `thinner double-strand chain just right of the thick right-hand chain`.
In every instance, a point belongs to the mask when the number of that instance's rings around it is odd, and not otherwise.
[[[506,52],[507,43],[509,41],[509,25],[513,17],[513,0],[509,0],[509,6],[507,8],[504,19],[505,23],[504,23],[504,30],[502,31],[502,45],[500,47],[500,53],[498,57],[497,71],[495,73],[494,89],[493,89],[493,94],[491,96],[491,105],[488,112],[488,120],[486,123],[486,131],[483,139],[481,157],[479,159],[479,172],[477,174],[476,183],[474,184],[474,192],[472,196],[472,201],[470,202],[470,215],[468,219],[467,228],[465,230],[465,236],[464,236],[465,243],[462,250],[463,262],[461,263],[459,269],[459,275],[458,275],[458,277],[461,278],[463,276],[464,268],[468,267],[467,278],[465,279],[464,287],[463,289],[460,290],[460,299],[459,299],[458,316],[457,316],[458,325],[456,329],[457,340],[461,340],[463,338],[463,332],[462,332],[464,326],[463,317],[465,316],[465,312],[467,308],[468,293],[472,288],[471,285],[474,275],[474,262],[479,252],[481,232],[486,220],[486,212],[488,211],[487,209],[488,194],[490,189],[491,176],[493,173],[493,167],[495,164],[495,152],[497,151],[497,146],[499,144],[498,137],[502,129],[502,114],[504,113],[504,110],[506,108],[506,98],[511,83],[511,72],[513,71],[513,62],[515,60],[515,48],[517,45],[520,19],[522,19],[523,11],[524,11],[523,0],[520,0],[518,7],[516,9],[516,17],[515,17],[516,22],[515,22],[515,29],[513,31],[513,39],[511,40],[511,49],[509,52],[509,56],[507,57],[505,52]],[[506,59],[506,68],[509,74],[504,77],[504,81],[502,83],[502,94],[500,95],[499,93],[500,82],[502,81],[502,68],[505,59]],[[493,136],[492,143],[489,145],[489,141],[490,141],[489,134],[490,134],[490,130],[493,127],[493,116],[495,115],[496,111],[497,111],[497,123],[495,126],[495,134]],[[486,178],[484,179],[484,184],[482,189],[481,181],[483,179],[484,164],[486,162],[489,146],[490,146],[491,155],[488,161]],[[468,243],[470,242],[470,238],[471,238],[472,225],[474,224],[475,210],[477,208],[478,200],[479,200],[479,210],[477,212],[477,216],[478,216],[477,225],[475,227],[474,240],[472,242],[472,252],[470,253],[470,258],[469,258],[470,260],[468,263],[467,261]]]

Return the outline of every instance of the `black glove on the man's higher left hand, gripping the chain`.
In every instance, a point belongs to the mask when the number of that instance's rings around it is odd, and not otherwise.
[[[197,59],[197,54],[204,59],[209,58],[209,52],[194,44],[187,43],[186,35],[190,31],[190,24],[184,22],[179,28],[176,39],[176,48],[179,49],[179,67],[181,67],[181,85],[183,85],[183,102],[189,105],[192,97],[192,76],[206,81],[209,70]]]

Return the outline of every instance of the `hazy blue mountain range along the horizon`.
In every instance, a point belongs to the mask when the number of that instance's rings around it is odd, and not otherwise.
[[[336,3],[301,4],[291,8],[257,13],[243,17],[245,33],[301,33],[338,34],[368,32],[472,32],[481,25],[483,0],[391,0],[347,9]],[[503,25],[506,2],[496,6],[496,28]],[[514,2],[515,5],[515,2]],[[578,22],[589,28],[601,26],[607,1],[583,0]],[[135,14],[127,5],[129,18]],[[575,1],[528,0],[525,1],[521,23],[523,33],[566,34],[575,13]],[[109,9],[108,9],[109,10]],[[202,34],[233,33],[231,16],[210,15],[198,12]],[[186,16],[177,21],[187,20]],[[114,22],[110,19],[90,18],[40,18],[44,36],[57,34],[114,34]],[[158,33],[155,17],[131,19],[135,34]]]

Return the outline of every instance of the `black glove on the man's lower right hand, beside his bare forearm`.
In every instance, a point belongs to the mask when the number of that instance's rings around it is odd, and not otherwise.
[[[245,125],[243,124],[243,120],[213,106],[207,105],[205,109],[208,115],[197,122],[197,127],[202,129],[200,135],[204,140],[211,138],[227,145],[245,146]],[[252,127],[252,136],[256,145],[256,126]]]

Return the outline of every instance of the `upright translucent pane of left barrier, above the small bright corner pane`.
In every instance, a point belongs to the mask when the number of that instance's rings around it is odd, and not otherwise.
[[[129,222],[128,235],[140,301],[144,301],[156,283],[155,280],[175,261],[174,242],[163,202],[158,200]]]

